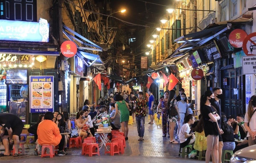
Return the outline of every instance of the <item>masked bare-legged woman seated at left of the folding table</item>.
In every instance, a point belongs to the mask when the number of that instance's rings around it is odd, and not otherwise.
[[[87,132],[82,131],[82,128],[84,127],[84,125],[86,125],[86,122],[88,122],[88,120],[89,120],[88,118],[85,118],[84,111],[77,112],[75,124],[77,127],[78,136],[82,137],[82,142],[84,141],[85,138],[92,137],[90,130],[88,130]]]

